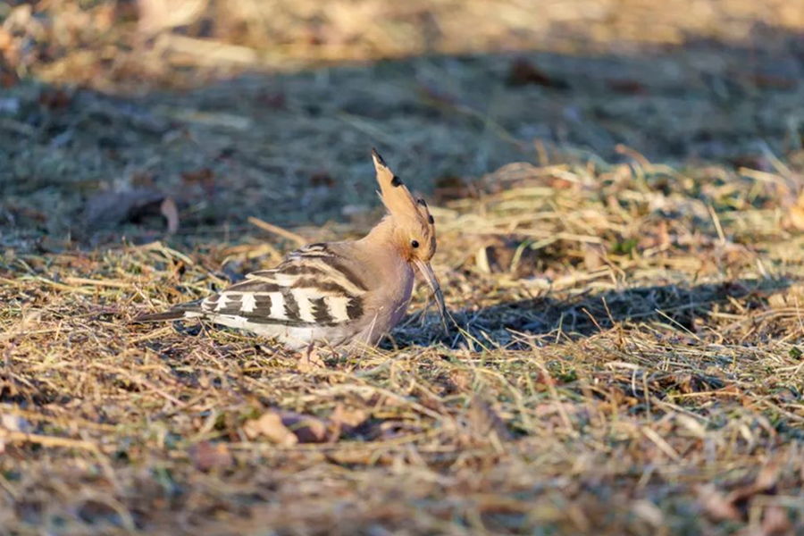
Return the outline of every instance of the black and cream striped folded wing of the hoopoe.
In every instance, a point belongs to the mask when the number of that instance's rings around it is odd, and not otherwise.
[[[276,268],[249,273],[246,281],[207,297],[200,312],[245,328],[338,326],[363,315],[366,290],[343,257],[325,244],[312,244]]]

